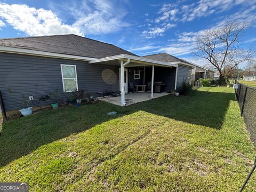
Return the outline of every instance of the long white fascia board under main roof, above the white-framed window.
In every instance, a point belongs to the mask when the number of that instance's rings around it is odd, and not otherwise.
[[[36,50],[29,50],[29,49],[22,49],[17,47],[8,47],[8,46],[0,46],[0,52],[35,55],[35,56],[50,57],[50,58],[82,60],[82,61],[90,61],[90,60],[96,59],[96,58],[82,57],[82,56],[76,56],[76,55],[52,53],[52,52],[46,52],[46,51],[36,51]]]

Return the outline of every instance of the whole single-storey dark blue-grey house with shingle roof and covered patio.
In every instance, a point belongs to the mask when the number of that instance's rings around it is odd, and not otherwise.
[[[143,90],[138,100],[143,101],[163,95],[154,92],[156,81],[164,85],[162,92],[170,93],[179,89],[183,79],[190,78],[194,67],[190,63],[152,57],[139,57],[115,45],[73,34],[0,39],[0,91],[7,116],[17,113],[29,96],[34,98],[30,101],[34,110],[50,105],[51,98],[40,98],[53,90],[58,90],[59,102],[67,101],[68,92],[79,89],[95,97],[105,91],[121,92],[116,104],[125,106],[129,97],[139,95],[126,94],[129,83]]]

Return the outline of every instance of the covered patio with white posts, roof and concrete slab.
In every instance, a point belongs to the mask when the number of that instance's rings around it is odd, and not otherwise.
[[[177,79],[175,78],[175,74],[177,74],[177,64],[173,63],[167,63],[167,62],[162,62],[162,61],[157,61],[157,60],[152,60],[152,59],[147,59],[147,58],[142,58],[142,57],[137,57],[133,55],[127,55],[127,54],[121,54],[121,55],[115,55],[112,57],[106,57],[106,58],[101,58],[101,59],[95,59],[90,61],[92,65],[96,65],[97,63],[99,64],[105,64],[105,65],[114,65],[114,66],[119,66],[119,87],[120,87],[120,93],[121,96],[117,97],[109,97],[109,98],[99,98],[99,100],[102,101],[107,101],[110,103],[113,103],[115,105],[119,106],[127,106],[131,105],[133,103],[138,103],[150,99],[155,99],[158,97],[162,97],[164,95],[167,95],[170,93],[171,90],[168,91],[168,93],[155,93],[154,92],[154,84],[155,81],[158,79],[155,79],[155,68],[165,68],[164,70],[161,70],[159,77],[165,76],[166,79],[170,78],[172,76],[173,78],[173,87],[176,87],[176,81]],[[148,86],[145,83],[145,68],[147,68],[147,73],[149,72],[151,74],[150,78],[150,87],[147,87],[148,90],[146,92],[138,93],[133,91],[133,93],[129,93],[129,79],[127,79],[128,76],[128,71],[130,71],[132,68],[143,68],[143,81],[139,86]],[[175,67],[174,73],[169,74],[167,69]],[[129,70],[130,69],[130,70]],[[149,70],[150,69],[150,70]],[[135,74],[134,74],[135,75]],[[161,77],[162,78],[162,77]],[[134,78],[135,79],[135,78]],[[174,85],[175,84],[175,85]],[[138,85],[134,85],[138,86]]]

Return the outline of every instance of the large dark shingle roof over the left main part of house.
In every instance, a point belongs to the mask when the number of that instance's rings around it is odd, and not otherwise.
[[[73,34],[6,38],[0,39],[0,46],[78,55],[91,58],[105,58],[118,54],[135,55],[115,45]]]

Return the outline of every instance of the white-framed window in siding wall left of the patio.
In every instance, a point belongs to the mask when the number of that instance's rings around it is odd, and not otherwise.
[[[64,92],[78,90],[75,65],[60,65]]]

